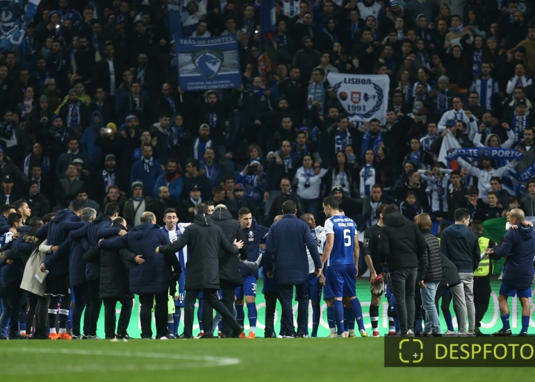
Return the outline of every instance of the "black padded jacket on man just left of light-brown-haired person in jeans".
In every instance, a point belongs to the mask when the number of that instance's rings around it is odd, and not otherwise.
[[[418,261],[426,249],[425,239],[413,222],[400,213],[383,218],[379,238],[379,258],[388,263],[388,269],[418,268]]]

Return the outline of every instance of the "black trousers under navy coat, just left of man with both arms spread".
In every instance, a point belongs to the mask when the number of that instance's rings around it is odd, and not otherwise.
[[[156,338],[167,335],[167,290],[160,294],[140,294],[140,322],[141,338],[152,338],[151,316],[154,307],[154,321],[156,322]]]

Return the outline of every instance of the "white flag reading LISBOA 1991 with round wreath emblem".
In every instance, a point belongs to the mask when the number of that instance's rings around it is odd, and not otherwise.
[[[368,76],[329,72],[327,81],[352,122],[369,122],[377,118],[384,124],[390,89],[390,78],[386,74]]]

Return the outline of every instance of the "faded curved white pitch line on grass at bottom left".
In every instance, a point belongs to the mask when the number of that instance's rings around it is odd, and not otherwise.
[[[10,347],[4,347],[3,349],[0,348],[0,352],[20,352],[20,353],[43,353],[43,354],[50,354],[53,352],[53,354],[74,354],[79,356],[112,356],[112,357],[127,357],[127,358],[156,358],[156,359],[172,359],[172,360],[189,360],[189,361],[195,361],[197,363],[202,363],[199,367],[218,367],[218,366],[231,366],[231,365],[239,365],[241,363],[241,360],[239,358],[229,358],[229,357],[218,357],[218,356],[192,356],[192,355],[186,355],[186,354],[168,354],[168,353],[145,353],[142,351],[99,351],[99,350],[82,350],[82,349],[39,349],[39,348],[31,348],[31,347],[21,347],[21,348],[10,348]],[[185,367],[184,363],[181,363],[180,365],[170,365],[170,364],[161,364],[161,365],[121,365],[113,367],[113,366],[106,366],[106,365],[99,365],[98,371],[135,371],[135,370],[172,370],[172,369],[178,369]],[[186,367],[197,367],[196,365],[186,366]],[[71,372],[86,372],[86,371],[94,371],[94,365],[92,365],[91,368],[88,367],[81,367],[81,366],[73,366],[70,367],[72,370],[69,369]],[[20,368],[13,368],[14,370],[17,370],[17,372],[20,372]],[[25,368],[23,368],[25,369]],[[57,370],[57,367],[54,367],[55,370]],[[45,371],[43,371],[45,370]],[[67,370],[66,370],[67,371]],[[46,372],[46,368],[43,369],[42,367],[37,367],[37,370],[28,370],[26,368],[24,374],[43,374]],[[6,370],[2,371],[2,374],[6,374]]]

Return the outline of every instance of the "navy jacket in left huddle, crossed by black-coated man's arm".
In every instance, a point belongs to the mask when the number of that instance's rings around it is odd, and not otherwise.
[[[72,232],[72,239],[81,241],[83,254],[90,249],[97,247],[101,238],[110,238],[119,234],[120,228],[109,228],[111,218],[104,213],[97,216],[90,224],[85,224],[81,229]],[[82,254],[82,256],[83,256]],[[94,263],[85,265],[85,279],[87,281],[100,278],[100,258]]]

